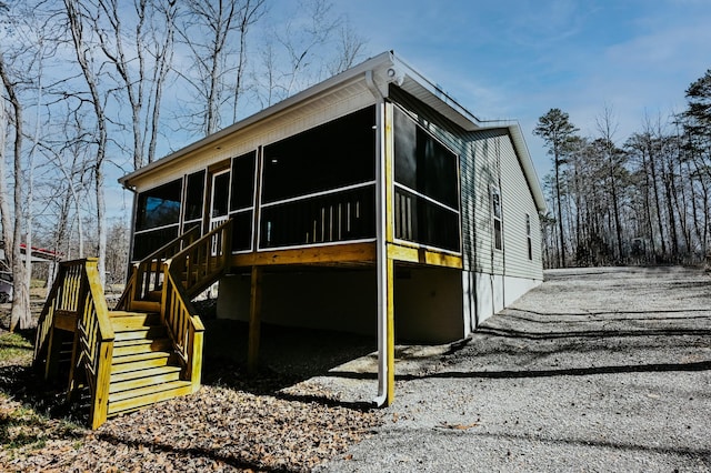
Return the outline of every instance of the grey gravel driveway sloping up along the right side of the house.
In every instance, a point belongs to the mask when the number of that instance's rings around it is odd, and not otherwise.
[[[711,471],[699,270],[550,271],[467,344],[399,355],[384,425],[317,471]],[[362,400],[373,372],[361,359],[308,382]]]

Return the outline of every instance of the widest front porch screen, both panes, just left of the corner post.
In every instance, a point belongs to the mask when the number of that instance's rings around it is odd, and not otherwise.
[[[375,109],[264,147],[260,249],[375,236]]]

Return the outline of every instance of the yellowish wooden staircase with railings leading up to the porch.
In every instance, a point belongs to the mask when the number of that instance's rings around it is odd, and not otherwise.
[[[60,346],[72,341],[68,399],[88,389],[92,429],[200,388],[204,328],[190,299],[223,274],[230,235],[230,221],[202,238],[192,230],[147,256],[114,310],[96,259],[61,263],[38,323],[34,365],[57,379]]]

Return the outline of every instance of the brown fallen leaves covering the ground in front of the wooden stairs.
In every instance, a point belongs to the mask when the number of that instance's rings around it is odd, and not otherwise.
[[[313,392],[309,399],[313,399]],[[0,412],[21,409],[3,397]],[[44,446],[8,449],[10,471],[310,471],[343,455],[378,415],[318,401],[202,386],[192,395],[108,421],[96,432],[47,435]],[[51,425],[59,422],[43,420]],[[40,422],[40,425],[42,423]]]

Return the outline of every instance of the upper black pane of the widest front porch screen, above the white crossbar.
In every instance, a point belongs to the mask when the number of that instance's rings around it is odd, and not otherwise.
[[[374,181],[374,124],[370,107],[264,147],[262,202]]]

